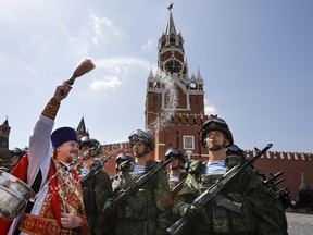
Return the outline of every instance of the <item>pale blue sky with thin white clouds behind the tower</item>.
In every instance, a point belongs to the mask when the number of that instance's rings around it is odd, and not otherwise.
[[[174,2],[189,75],[204,79],[205,111],[243,149],[313,152],[312,0],[0,0],[0,122],[10,149],[28,145],[55,86],[88,57],[55,127],[84,116],[102,144],[145,128],[146,83]]]

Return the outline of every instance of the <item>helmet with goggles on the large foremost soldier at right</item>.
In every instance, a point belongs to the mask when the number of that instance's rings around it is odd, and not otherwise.
[[[233,138],[231,132],[228,128],[227,123],[223,119],[214,118],[214,119],[206,120],[201,126],[200,140],[204,148],[206,148],[206,144],[205,144],[206,134],[208,132],[211,132],[211,131],[222,132],[226,136],[226,138],[229,140],[228,146],[234,145],[234,138]]]

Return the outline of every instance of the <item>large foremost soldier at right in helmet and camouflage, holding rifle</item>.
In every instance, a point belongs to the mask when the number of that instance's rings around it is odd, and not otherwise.
[[[201,144],[209,150],[208,161],[195,161],[188,171],[183,189],[175,198],[173,212],[189,221],[189,234],[285,235],[286,215],[274,194],[260,182],[251,168],[246,168],[222,190],[222,198],[241,203],[237,213],[216,202],[205,206],[205,215],[190,203],[221,175],[245,161],[243,156],[226,157],[234,144],[233,135],[222,119],[208,120],[201,127]],[[205,221],[205,222],[204,222]]]

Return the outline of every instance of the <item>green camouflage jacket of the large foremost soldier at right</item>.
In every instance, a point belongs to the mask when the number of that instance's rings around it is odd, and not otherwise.
[[[243,161],[243,157],[226,159],[226,171]],[[183,214],[201,193],[209,188],[221,175],[205,174],[206,161],[196,161],[190,165],[183,189],[176,196],[173,212]],[[285,235],[287,222],[281,203],[260,182],[251,168],[245,169],[222,190],[222,195],[242,203],[241,213],[233,212],[215,202],[209,202],[205,213],[210,220],[205,224],[202,217],[190,224],[189,234],[253,234]]]

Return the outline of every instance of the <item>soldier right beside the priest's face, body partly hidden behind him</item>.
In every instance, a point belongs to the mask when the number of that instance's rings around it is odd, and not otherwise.
[[[88,136],[86,136],[88,137]],[[83,139],[83,138],[82,138]],[[80,178],[84,178],[90,169],[100,164],[98,157],[100,143],[97,139],[84,138],[79,143],[80,150],[84,151],[83,166],[80,168]],[[87,235],[109,235],[111,233],[111,222],[105,219],[102,211],[108,198],[113,195],[112,185],[108,173],[101,168],[95,175],[92,175],[86,183],[82,184],[84,205],[87,215],[88,230]]]

